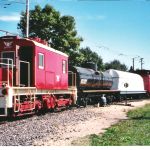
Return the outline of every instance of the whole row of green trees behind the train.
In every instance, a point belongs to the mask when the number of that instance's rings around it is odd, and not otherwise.
[[[26,13],[21,13],[20,22],[17,28],[23,37],[26,36]],[[83,38],[78,36],[75,28],[75,19],[72,16],[62,16],[59,11],[47,4],[44,8],[36,5],[30,10],[29,37],[39,37],[46,40],[48,44],[69,55],[69,65],[83,66],[86,62],[97,63],[98,70],[118,69],[127,70],[125,64],[119,60],[103,63],[100,55],[90,49],[81,48]]]

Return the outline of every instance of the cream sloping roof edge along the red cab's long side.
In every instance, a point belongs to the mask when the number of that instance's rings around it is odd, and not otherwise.
[[[63,52],[61,52],[61,51],[55,50],[54,48],[49,47],[49,46],[47,46],[47,45],[44,45],[44,44],[42,44],[42,43],[36,42],[36,41],[34,41],[34,40],[31,40],[31,39],[27,39],[27,38],[26,38],[25,40],[31,41],[35,46],[44,48],[45,50],[48,50],[48,51],[57,53],[57,54],[59,54],[59,55],[63,55],[63,56],[65,56],[65,57],[68,57],[67,54],[65,54],[65,53],[63,53]]]

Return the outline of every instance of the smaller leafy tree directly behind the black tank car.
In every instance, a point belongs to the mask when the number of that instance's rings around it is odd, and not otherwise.
[[[82,62],[80,63],[80,65],[83,65],[86,62],[94,62],[97,64],[98,70],[104,69],[102,58],[96,52],[93,52],[89,47],[81,48],[80,53],[80,58],[82,58]]]

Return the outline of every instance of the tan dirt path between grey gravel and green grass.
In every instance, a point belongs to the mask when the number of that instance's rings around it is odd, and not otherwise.
[[[122,119],[127,119],[126,112],[131,109],[142,107],[150,103],[150,100],[140,100],[130,102],[131,106],[125,106],[124,103],[118,103],[106,107],[91,107],[90,112],[100,113],[98,117],[93,117],[88,121],[80,122],[75,125],[68,125],[64,131],[61,131],[60,138],[57,140],[46,139],[47,142],[42,145],[47,146],[73,146],[86,145],[90,134],[104,133],[105,129],[117,123]],[[61,129],[61,128],[60,128]],[[83,138],[84,137],[84,138]],[[38,144],[41,145],[40,141]]]

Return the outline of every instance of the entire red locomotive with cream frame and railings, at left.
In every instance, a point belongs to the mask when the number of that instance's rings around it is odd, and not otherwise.
[[[40,39],[0,38],[0,116],[12,117],[75,104],[68,56]]]

